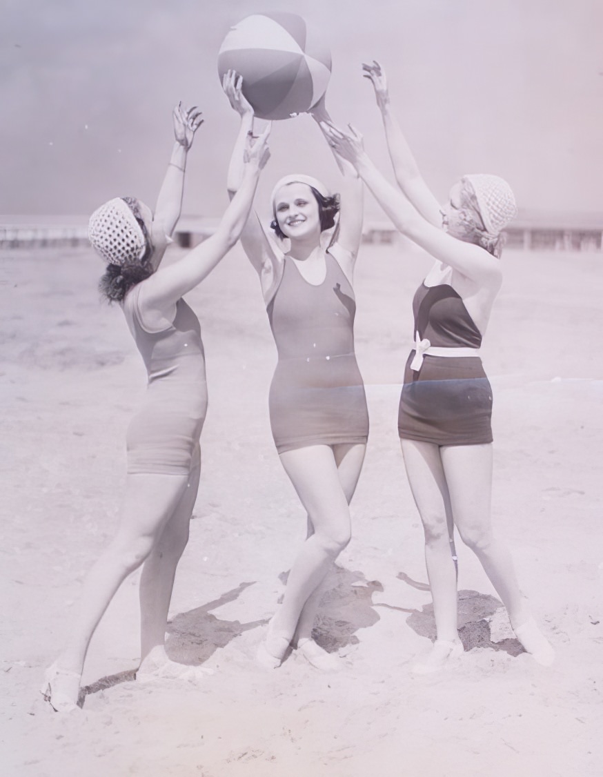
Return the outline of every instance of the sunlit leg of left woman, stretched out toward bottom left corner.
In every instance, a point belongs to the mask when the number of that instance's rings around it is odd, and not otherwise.
[[[54,666],[82,674],[90,639],[113,595],[125,578],[141,566],[182,498],[187,477],[128,475],[117,535],[85,579],[78,619],[68,646]],[[55,678],[57,693],[61,678]],[[70,686],[72,692],[72,684]],[[74,703],[77,701],[75,695]]]

